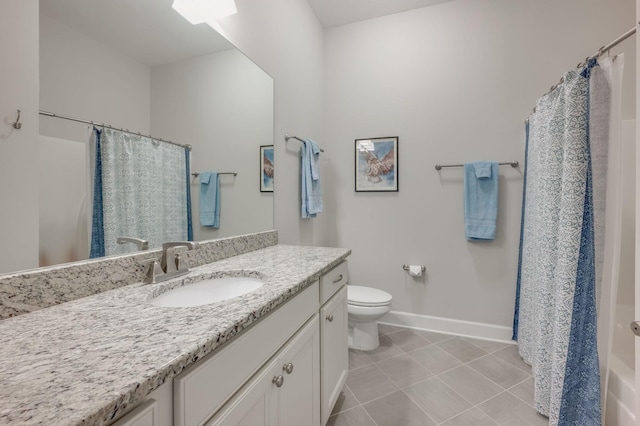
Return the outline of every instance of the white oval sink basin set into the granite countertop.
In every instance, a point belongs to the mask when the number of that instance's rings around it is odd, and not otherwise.
[[[208,305],[250,293],[263,284],[264,281],[250,277],[210,278],[169,290],[149,303],[168,308]]]

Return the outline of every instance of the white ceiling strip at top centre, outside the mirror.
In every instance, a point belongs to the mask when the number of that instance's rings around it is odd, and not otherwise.
[[[324,27],[405,12],[452,0],[307,0]]]

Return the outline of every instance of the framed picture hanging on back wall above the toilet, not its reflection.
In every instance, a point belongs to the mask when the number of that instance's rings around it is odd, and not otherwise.
[[[398,137],[356,139],[356,192],[398,191]]]

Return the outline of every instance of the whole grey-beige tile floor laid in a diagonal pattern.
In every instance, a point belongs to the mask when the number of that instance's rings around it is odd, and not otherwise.
[[[328,426],[547,425],[517,347],[379,326],[380,347],[349,351]]]

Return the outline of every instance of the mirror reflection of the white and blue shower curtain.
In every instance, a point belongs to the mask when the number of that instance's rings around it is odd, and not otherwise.
[[[91,257],[132,251],[118,237],[157,248],[186,241],[189,229],[189,152],[114,129],[94,129]]]

